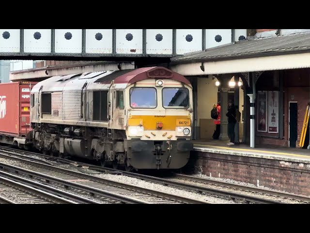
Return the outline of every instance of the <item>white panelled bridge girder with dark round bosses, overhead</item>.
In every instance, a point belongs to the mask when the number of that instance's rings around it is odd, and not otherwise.
[[[0,29],[0,57],[169,58],[231,43],[239,34],[246,29]]]

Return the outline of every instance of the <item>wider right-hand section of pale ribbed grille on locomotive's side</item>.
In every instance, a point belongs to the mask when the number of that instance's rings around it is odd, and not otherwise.
[[[81,91],[62,93],[62,119],[78,120],[81,114]]]

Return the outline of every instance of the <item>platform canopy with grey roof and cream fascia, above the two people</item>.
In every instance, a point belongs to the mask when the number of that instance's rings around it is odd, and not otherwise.
[[[171,69],[186,76],[309,67],[310,33],[244,40],[171,58]]]

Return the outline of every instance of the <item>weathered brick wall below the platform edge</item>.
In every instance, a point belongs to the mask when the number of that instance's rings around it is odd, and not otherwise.
[[[191,159],[204,175],[310,195],[310,164],[201,151],[193,155]]]

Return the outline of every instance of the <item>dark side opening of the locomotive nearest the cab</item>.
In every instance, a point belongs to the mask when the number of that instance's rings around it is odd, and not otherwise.
[[[93,120],[108,121],[108,91],[93,92]]]

